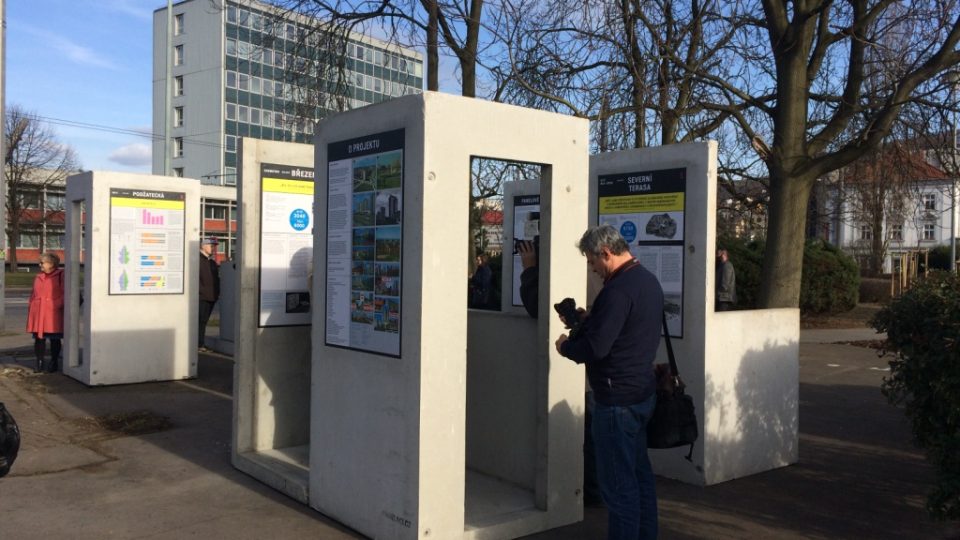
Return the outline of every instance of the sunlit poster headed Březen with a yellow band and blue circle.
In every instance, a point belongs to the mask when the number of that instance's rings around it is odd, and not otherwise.
[[[260,165],[260,326],[310,324],[313,169]]]

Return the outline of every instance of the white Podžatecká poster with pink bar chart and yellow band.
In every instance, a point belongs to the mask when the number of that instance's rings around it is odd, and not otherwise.
[[[186,198],[110,189],[109,294],[183,294]]]

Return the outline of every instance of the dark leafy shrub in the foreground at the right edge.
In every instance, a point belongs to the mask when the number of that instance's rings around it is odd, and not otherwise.
[[[960,279],[935,272],[873,318],[896,353],[884,396],[902,405],[937,480],[927,495],[936,519],[960,519]]]

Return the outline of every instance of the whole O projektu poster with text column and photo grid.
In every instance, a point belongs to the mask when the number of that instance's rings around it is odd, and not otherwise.
[[[326,344],[400,356],[404,130],[331,143]]]

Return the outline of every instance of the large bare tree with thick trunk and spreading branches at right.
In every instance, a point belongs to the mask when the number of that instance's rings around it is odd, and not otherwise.
[[[761,307],[800,298],[807,201],[820,177],[879,147],[903,107],[943,91],[939,76],[960,62],[956,0],[762,0],[730,3],[742,24],[724,61],[738,77],[691,72],[723,99],[762,158],[770,186]],[[895,38],[891,39],[892,36]],[[890,43],[896,43],[892,50]],[[681,65],[686,62],[676,56]]]

